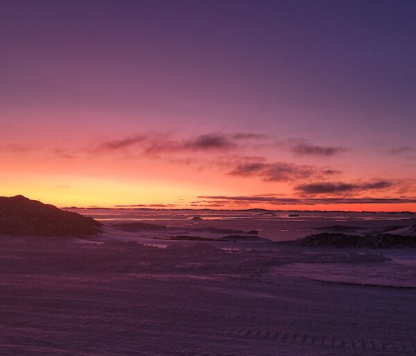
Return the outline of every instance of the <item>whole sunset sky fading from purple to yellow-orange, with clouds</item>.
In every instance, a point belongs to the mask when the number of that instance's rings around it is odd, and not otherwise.
[[[0,1],[0,195],[416,211],[415,1]]]

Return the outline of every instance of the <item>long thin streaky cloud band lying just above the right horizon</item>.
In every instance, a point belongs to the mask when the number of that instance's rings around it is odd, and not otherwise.
[[[251,204],[272,204],[272,205],[316,205],[316,204],[405,204],[416,203],[416,197],[399,197],[399,198],[372,198],[372,197],[358,197],[358,198],[308,198],[308,197],[280,197],[279,195],[248,195],[248,196],[225,196],[212,195],[201,196],[200,199],[205,199],[201,204],[218,205],[236,205],[236,206],[250,206]]]

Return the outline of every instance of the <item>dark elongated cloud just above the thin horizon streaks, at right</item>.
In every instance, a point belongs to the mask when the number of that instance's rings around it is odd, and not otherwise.
[[[390,188],[393,184],[390,181],[371,181],[367,183],[345,183],[345,182],[318,182],[311,184],[300,184],[295,187],[303,194],[340,194],[351,193],[363,190],[380,190]]]

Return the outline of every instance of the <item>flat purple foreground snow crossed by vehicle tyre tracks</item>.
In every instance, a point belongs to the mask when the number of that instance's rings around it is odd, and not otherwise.
[[[413,290],[295,278],[1,274],[2,355],[414,355]]]

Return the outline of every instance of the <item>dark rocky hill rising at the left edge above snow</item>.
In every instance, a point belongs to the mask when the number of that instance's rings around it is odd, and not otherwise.
[[[92,235],[101,224],[91,217],[62,211],[21,195],[0,197],[0,235]]]

